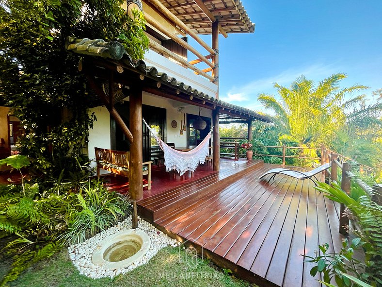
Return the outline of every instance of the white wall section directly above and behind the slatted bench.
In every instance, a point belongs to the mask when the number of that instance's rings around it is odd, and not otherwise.
[[[95,107],[90,109],[90,113],[95,113],[97,120],[94,122],[93,129],[89,130],[88,155],[89,159],[95,159],[94,148],[110,149],[110,114],[106,107]],[[96,162],[92,163],[96,167]],[[101,174],[108,173],[101,169]]]

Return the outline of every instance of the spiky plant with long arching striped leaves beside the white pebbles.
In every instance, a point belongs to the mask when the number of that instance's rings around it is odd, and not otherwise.
[[[108,191],[99,181],[89,180],[76,196],[77,203],[67,210],[68,229],[61,236],[70,244],[81,243],[111,227],[118,216],[126,216],[129,211],[127,197]]]

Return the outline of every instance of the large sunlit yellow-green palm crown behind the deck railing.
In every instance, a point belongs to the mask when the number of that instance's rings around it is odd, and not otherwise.
[[[309,147],[330,145],[335,132],[346,123],[346,111],[365,98],[358,95],[345,101],[367,88],[358,84],[341,88],[339,83],[346,77],[342,73],[333,74],[316,87],[312,80],[300,76],[289,88],[274,84],[280,100],[274,95],[260,94],[258,101],[275,113],[280,143],[297,142]]]

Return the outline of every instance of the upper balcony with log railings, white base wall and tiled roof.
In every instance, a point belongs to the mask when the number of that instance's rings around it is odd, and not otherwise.
[[[127,0],[127,12],[139,8],[139,2]],[[144,60],[178,81],[218,97],[218,35],[226,38],[229,33],[255,31],[241,1],[142,0],[142,8],[150,41]],[[211,34],[212,45],[199,34]],[[200,47],[191,46],[188,36]],[[191,59],[189,52],[193,54]]]

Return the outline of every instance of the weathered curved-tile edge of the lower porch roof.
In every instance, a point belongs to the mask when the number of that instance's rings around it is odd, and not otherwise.
[[[194,98],[219,106],[221,108],[224,108],[225,110],[232,110],[235,112],[239,112],[240,114],[237,114],[238,117],[240,117],[241,114],[246,114],[252,119],[257,119],[257,120],[261,120],[265,122],[271,122],[270,118],[260,115],[253,110],[216,99],[214,97],[211,97],[203,93],[202,91],[198,91],[197,89],[192,88],[188,84],[179,82],[174,77],[170,77],[166,73],[158,71],[157,68],[153,66],[147,66],[143,60],[133,60],[130,57],[130,55],[127,54],[126,51],[122,55],[122,57],[118,56],[117,58],[115,58],[114,57],[114,55],[116,54],[115,52],[105,50],[105,49],[121,49],[122,44],[120,44],[119,42],[108,42],[108,45],[105,45],[106,42],[101,39],[90,40],[86,38],[85,39],[69,38],[68,41],[69,42],[66,45],[66,49],[68,51],[78,53],[78,54],[85,54],[85,55],[89,55],[93,57],[103,57],[106,59],[113,60],[114,63],[118,63],[119,65],[127,67],[127,68],[132,68],[139,74],[143,74],[145,76],[151,76],[151,78],[155,79],[156,81],[159,81],[168,86],[172,86],[183,93],[193,96]],[[97,49],[97,45],[99,45],[101,49]],[[105,47],[109,47],[109,48],[105,48]],[[224,111],[222,112],[224,113]]]

